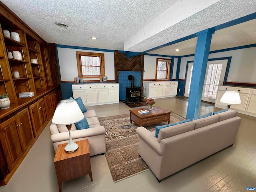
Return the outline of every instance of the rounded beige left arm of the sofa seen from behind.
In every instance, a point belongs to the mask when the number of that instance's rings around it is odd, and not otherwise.
[[[155,152],[159,155],[163,155],[163,151],[160,148],[160,143],[154,136],[154,132],[150,132],[144,127],[138,127],[136,129],[137,134],[142,138]]]

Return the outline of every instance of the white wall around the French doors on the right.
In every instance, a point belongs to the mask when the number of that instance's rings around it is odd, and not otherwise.
[[[209,58],[232,57],[228,80],[239,83],[256,83],[256,47],[209,54]],[[181,58],[180,79],[185,79],[187,61],[194,56]]]

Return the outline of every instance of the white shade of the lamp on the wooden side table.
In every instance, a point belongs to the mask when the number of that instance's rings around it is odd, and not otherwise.
[[[54,112],[52,122],[55,124],[72,124],[84,118],[76,101],[59,103]]]

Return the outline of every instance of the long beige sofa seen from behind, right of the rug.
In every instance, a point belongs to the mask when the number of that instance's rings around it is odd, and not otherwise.
[[[155,132],[138,127],[139,154],[160,182],[179,170],[232,146],[241,123],[237,111],[162,128]]]

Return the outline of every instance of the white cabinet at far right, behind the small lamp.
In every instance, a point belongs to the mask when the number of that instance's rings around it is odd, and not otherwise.
[[[240,113],[256,116],[256,90],[244,87],[218,86],[218,92],[215,100],[215,106],[218,108],[227,108],[228,104],[220,102],[226,91],[238,91],[241,104],[231,104],[230,108]]]

